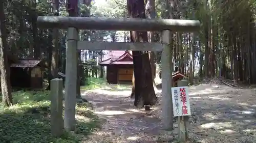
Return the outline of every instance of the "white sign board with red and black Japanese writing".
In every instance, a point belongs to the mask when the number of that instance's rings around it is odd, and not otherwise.
[[[174,116],[190,116],[188,87],[172,88]]]

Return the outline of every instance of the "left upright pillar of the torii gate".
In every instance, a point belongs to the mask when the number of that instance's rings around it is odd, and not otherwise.
[[[75,130],[77,40],[77,29],[74,27],[68,28],[64,114],[64,127],[67,131]]]

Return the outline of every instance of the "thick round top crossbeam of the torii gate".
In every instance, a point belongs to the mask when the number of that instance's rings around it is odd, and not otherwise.
[[[96,18],[96,17],[64,17],[39,16],[37,24],[41,28],[67,29],[75,27],[80,30],[105,31],[199,31],[198,20],[181,19],[141,19],[141,18]]]

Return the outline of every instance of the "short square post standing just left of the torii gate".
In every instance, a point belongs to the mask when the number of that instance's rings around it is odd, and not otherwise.
[[[63,134],[63,118],[62,118],[62,98],[63,98],[63,80],[55,78],[51,80],[51,133],[53,136],[61,136]]]

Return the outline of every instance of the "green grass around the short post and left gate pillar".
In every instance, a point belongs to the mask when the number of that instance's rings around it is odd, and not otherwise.
[[[76,106],[75,134],[65,132],[60,138],[51,135],[49,92],[14,92],[14,105],[5,107],[0,103],[1,143],[78,143],[82,136],[100,127],[100,122],[87,103]]]

